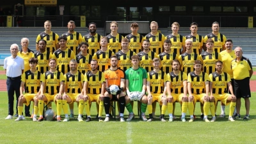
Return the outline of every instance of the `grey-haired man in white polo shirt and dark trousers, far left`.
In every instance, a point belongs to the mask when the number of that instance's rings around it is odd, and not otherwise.
[[[10,47],[12,56],[9,56],[4,59],[4,69],[6,72],[7,80],[7,92],[8,92],[8,116],[6,120],[12,119],[13,117],[13,101],[14,101],[14,92],[16,94],[16,111],[17,104],[20,96],[20,79],[21,74],[24,72],[24,60],[17,56],[19,51],[19,45],[12,44]]]

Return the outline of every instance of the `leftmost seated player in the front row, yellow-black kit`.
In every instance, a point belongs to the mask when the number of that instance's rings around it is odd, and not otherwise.
[[[36,58],[29,59],[30,70],[24,72],[21,76],[20,83],[20,97],[18,102],[18,118],[15,121],[24,120],[24,116],[22,115],[23,104],[29,105],[29,102],[33,100],[34,97],[40,95],[40,78],[42,74],[36,70],[36,65],[38,60]],[[24,88],[24,85],[26,87]],[[23,94],[23,88],[25,89],[25,93]],[[34,106],[34,116],[33,121],[36,120],[36,114],[38,112],[38,106]]]

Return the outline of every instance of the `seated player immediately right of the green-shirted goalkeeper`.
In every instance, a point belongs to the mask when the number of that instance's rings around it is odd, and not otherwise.
[[[160,60],[159,58],[154,58],[153,60],[154,70],[148,72],[147,78],[147,98],[148,98],[148,113],[149,119],[147,122],[151,122],[153,120],[152,115],[152,102],[159,102],[162,106],[161,109],[161,122],[166,122],[164,120],[164,114],[167,108],[167,100],[166,100],[166,73],[160,70]]]

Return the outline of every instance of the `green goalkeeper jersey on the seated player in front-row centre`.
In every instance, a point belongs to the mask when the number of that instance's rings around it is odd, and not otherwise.
[[[147,71],[139,67],[137,70],[129,68],[125,71],[125,79],[129,80],[130,92],[141,92],[143,87],[143,79],[147,79]]]

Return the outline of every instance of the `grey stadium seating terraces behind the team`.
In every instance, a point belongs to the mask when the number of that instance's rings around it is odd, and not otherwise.
[[[163,35],[170,35],[171,28],[159,28]],[[44,31],[44,27],[13,27],[13,28],[0,28],[0,53],[9,53],[11,44],[19,44],[20,39],[23,37],[29,38],[29,48],[35,50],[36,36]],[[59,36],[68,31],[68,28],[53,27],[52,31]],[[88,28],[76,28],[76,31],[82,35],[88,33]],[[199,35],[207,35],[211,33],[211,28],[198,28]],[[97,33],[104,35],[104,28],[97,28]],[[180,35],[188,35],[191,33],[189,28],[180,28]],[[240,46],[243,48],[244,54],[256,54],[256,28],[220,28],[220,33],[230,38],[234,42],[234,47]]]

